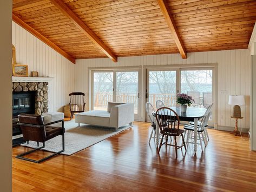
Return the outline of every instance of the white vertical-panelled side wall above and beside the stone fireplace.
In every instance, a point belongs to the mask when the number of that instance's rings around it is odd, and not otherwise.
[[[75,65],[14,22],[12,44],[16,48],[16,63],[28,65],[29,76],[31,71],[38,71],[39,76],[53,77],[49,111],[62,111],[69,103],[68,94],[74,91]]]

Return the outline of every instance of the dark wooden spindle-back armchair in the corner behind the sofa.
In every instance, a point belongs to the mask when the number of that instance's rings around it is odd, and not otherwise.
[[[84,96],[85,94],[83,92],[71,92],[69,94],[70,120],[72,120],[74,113],[84,112],[86,107]]]

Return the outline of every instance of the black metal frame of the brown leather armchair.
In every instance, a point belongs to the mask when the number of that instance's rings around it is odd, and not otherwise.
[[[50,122],[50,123],[47,123],[47,124],[43,124],[43,125],[34,125],[34,124],[27,124],[27,123],[17,123],[18,125],[25,125],[25,126],[30,126],[30,127],[36,127],[36,128],[42,128],[42,127],[45,127],[47,125],[51,125],[51,124],[55,124],[55,123],[59,123],[59,122],[62,122],[62,150],[61,151],[58,151],[54,154],[51,154],[47,157],[44,157],[44,158],[41,158],[40,160],[33,160],[31,158],[26,158],[26,157],[23,157],[24,155],[28,155],[28,154],[31,154],[33,153],[34,151],[37,151],[37,150],[40,150],[40,149],[43,149],[45,147],[45,142],[43,142],[43,146],[42,147],[38,147],[36,149],[33,149],[33,150],[30,150],[30,151],[27,151],[25,153],[22,153],[22,154],[19,154],[16,156],[16,158],[19,158],[21,160],[25,160],[25,161],[30,161],[30,162],[34,162],[34,163],[40,163],[42,161],[45,161],[45,160],[48,160],[49,158],[55,156],[55,155],[58,155],[60,153],[62,153],[64,150],[65,150],[65,140],[64,140],[64,133],[65,133],[65,128],[64,128],[64,120],[58,120],[58,121],[54,121],[54,122]],[[38,143],[38,142],[37,142]],[[38,146],[38,144],[37,144]]]

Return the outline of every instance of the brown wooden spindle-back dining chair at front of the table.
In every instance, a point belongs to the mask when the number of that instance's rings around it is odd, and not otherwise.
[[[170,145],[175,147],[176,158],[178,157],[178,149],[184,147],[187,151],[183,133],[185,132],[183,129],[180,129],[180,118],[176,112],[170,108],[162,107],[155,112],[156,122],[159,125],[160,133],[162,134],[161,142],[159,145],[158,153],[163,144]],[[176,137],[182,137],[182,144],[180,146],[177,145]],[[166,141],[163,143],[163,138],[166,136]],[[168,144],[168,137],[174,137],[174,145]]]

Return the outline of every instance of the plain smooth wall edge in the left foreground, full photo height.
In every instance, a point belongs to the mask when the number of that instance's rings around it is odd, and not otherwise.
[[[11,11],[12,1],[0,1],[0,191],[11,191],[12,100],[11,100]]]

